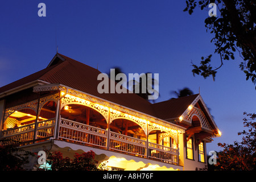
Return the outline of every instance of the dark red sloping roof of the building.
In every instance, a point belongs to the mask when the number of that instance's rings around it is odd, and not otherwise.
[[[44,84],[62,84],[69,86],[70,88],[80,90],[81,92],[92,96],[114,102],[117,105],[125,106],[166,121],[179,118],[180,115],[184,114],[187,110],[188,106],[191,105],[192,102],[195,102],[196,98],[200,96],[199,94],[195,94],[151,104],[135,93],[100,94],[97,91],[97,86],[101,82],[101,80],[97,80],[98,74],[100,73],[101,72],[95,68],[57,53],[48,64],[47,68],[2,86],[0,88],[0,96],[2,93],[22,87],[22,85],[26,85],[30,82],[43,81]],[[204,109],[204,112],[207,114],[208,110]],[[208,119],[212,120],[214,123],[212,118],[208,117]]]

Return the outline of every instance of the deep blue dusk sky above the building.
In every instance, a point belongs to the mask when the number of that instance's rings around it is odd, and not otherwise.
[[[41,2],[46,17],[38,16]],[[219,151],[218,142],[241,140],[243,111],[255,112],[255,86],[238,68],[239,56],[224,62],[216,81],[193,77],[191,61],[199,64],[214,46],[204,27],[208,11],[188,15],[184,8],[185,0],[1,1],[0,86],[46,68],[57,42],[60,53],[101,72],[159,73],[157,102],[174,97],[172,90],[198,93],[200,86],[222,132],[207,151]],[[219,56],[213,60],[218,67]]]

